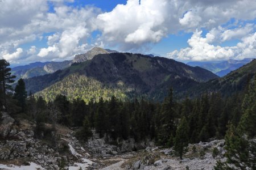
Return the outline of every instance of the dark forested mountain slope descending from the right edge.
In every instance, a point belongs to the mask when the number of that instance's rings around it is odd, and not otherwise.
[[[246,65],[231,71],[221,78],[209,80],[208,82],[189,88],[188,94],[196,96],[205,91],[220,91],[223,96],[230,96],[236,94],[236,92],[244,90],[247,83],[255,76],[255,74],[256,59],[253,59]]]

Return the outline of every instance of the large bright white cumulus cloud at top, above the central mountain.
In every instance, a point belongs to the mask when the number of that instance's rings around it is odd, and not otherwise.
[[[145,42],[159,42],[167,34],[164,25],[167,1],[129,0],[126,5],[117,5],[113,11],[98,15],[97,25],[106,41],[121,44],[123,50],[130,50]],[[127,48],[127,46],[129,48]]]

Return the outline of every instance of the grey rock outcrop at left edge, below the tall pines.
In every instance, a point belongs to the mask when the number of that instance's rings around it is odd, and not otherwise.
[[[0,118],[0,137],[5,138],[11,131],[14,119],[10,117],[6,112],[1,112],[1,114],[2,118]]]

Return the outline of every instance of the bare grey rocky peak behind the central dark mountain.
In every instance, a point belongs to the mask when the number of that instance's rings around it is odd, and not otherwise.
[[[95,46],[91,50],[86,52],[85,54],[76,55],[75,58],[73,59],[72,63],[88,61],[90,59],[93,59],[93,57],[96,56],[97,54],[109,54],[109,53],[117,53],[117,51],[110,50],[110,49],[103,49],[103,48]]]

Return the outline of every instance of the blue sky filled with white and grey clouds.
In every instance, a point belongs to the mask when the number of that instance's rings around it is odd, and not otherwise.
[[[0,57],[63,61],[100,46],[177,61],[256,58],[255,0],[0,0]]]

